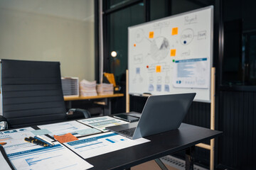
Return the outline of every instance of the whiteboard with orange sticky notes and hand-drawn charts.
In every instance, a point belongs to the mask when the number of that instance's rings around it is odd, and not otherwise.
[[[196,92],[210,103],[213,6],[128,28],[129,94]]]

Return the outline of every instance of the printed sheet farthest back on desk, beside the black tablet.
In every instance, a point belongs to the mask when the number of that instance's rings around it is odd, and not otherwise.
[[[106,127],[129,123],[129,122],[126,122],[124,120],[119,120],[117,118],[112,118],[110,116],[102,116],[100,118],[83,119],[83,120],[78,120],[78,122],[85,123],[85,125],[90,125],[93,128],[96,128],[98,130],[102,130],[102,132],[108,132],[109,131],[109,130],[105,129]]]

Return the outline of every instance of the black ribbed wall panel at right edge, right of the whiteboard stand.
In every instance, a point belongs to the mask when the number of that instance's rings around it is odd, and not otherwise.
[[[256,169],[256,93],[220,91],[219,163],[231,169]]]

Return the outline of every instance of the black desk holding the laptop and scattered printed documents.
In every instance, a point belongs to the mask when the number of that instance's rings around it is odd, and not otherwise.
[[[145,137],[151,142],[85,159],[92,169],[129,169],[144,162],[186,149],[186,169],[193,167],[193,148],[196,144],[218,137],[223,132],[194,125],[181,124],[178,130]]]

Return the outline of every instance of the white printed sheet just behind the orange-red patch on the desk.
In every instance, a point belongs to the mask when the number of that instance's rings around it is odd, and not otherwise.
[[[70,122],[64,122],[64,123],[53,123],[48,125],[38,125],[38,128],[41,129],[47,129],[51,133],[50,136],[53,137],[53,135],[65,135],[67,133],[71,133],[75,137],[82,136],[80,135],[81,130],[90,130],[92,128],[88,127],[87,125],[84,125],[82,123],[78,123],[77,121],[70,121]],[[89,134],[87,134],[89,135]]]

